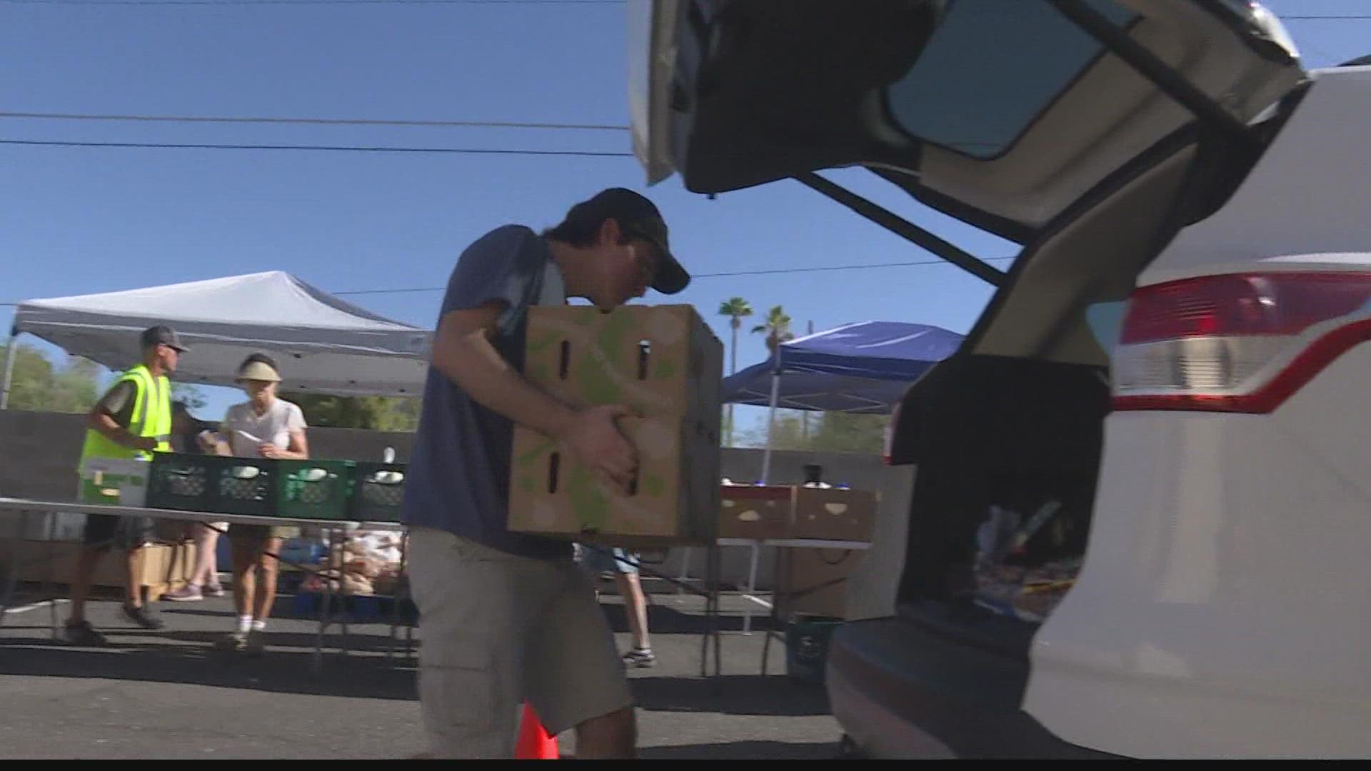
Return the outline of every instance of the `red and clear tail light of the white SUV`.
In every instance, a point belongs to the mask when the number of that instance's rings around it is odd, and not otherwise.
[[[1249,273],[1134,292],[1116,410],[1268,413],[1371,339],[1371,273]]]

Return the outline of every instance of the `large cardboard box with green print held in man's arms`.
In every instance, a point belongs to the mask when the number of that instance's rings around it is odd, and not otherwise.
[[[554,440],[518,427],[509,527],[606,546],[707,543],[718,525],[724,348],[691,306],[529,311],[524,376],[576,406],[624,405],[639,453],[628,495]]]

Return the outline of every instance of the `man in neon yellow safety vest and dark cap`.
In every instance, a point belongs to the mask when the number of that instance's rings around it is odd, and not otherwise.
[[[171,450],[171,384],[167,375],[175,372],[177,359],[186,348],[166,327],[145,329],[140,342],[143,364],[121,375],[86,417],[82,468],[92,458],[151,458],[152,453]],[[77,575],[71,582],[67,642],[85,646],[106,643],[104,635],[85,620],[85,601],[90,593],[90,576],[111,546],[125,553],[125,617],[143,628],[163,627],[162,619],[143,605],[140,576],[147,556],[143,545],[149,541],[151,532],[152,520],[145,517],[86,514],[85,549],[77,560]]]

